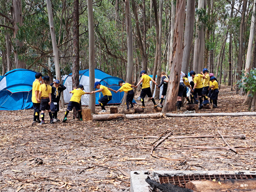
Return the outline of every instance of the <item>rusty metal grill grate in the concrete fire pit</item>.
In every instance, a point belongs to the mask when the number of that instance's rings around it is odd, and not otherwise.
[[[160,183],[171,183],[185,188],[186,183],[189,181],[202,181],[202,180],[228,180],[228,179],[254,179],[256,175],[184,175],[173,177],[159,177]]]

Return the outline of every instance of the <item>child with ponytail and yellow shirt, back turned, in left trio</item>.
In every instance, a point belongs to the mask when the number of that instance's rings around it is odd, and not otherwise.
[[[53,124],[52,111],[50,110],[50,104],[52,102],[52,87],[50,85],[50,77],[44,76],[44,84],[40,85],[38,97],[41,98],[40,110],[42,121],[40,125],[44,124],[44,111],[48,111],[50,116],[50,124]]]

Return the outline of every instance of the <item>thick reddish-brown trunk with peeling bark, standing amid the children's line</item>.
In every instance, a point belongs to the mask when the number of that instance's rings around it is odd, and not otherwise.
[[[163,112],[173,111],[176,108],[176,100],[180,84],[180,71],[183,53],[183,33],[185,22],[186,0],[176,2],[176,20],[173,38],[173,62],[168,83],[167,94],[164,102]]]

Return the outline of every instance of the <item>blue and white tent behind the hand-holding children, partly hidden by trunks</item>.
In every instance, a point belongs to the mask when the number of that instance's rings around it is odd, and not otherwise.
[[[106,87],[109,87],[113,90],[116,90],[116,91],[120,88],[120,86],[118,85],[118,81],[120,81],[122,79],[108,75],[108,74],[104,73],[103,71],[101,71],[100,69],[95,69],[94,73],[95,73],[95,82],[99,81],[100,84],[102,84]],[[64,102],[68,103],[72,97],[72,94],[69,92],[73,90],[73,88],[72,88],[72,73],[70,73],[66,77],[63,84],[65,85],[65,87],[67,87],[67,89],[63,91]],[[85,92],[90,92],[89,91],[89,69],[79,71],[79,84],[84,85]],[[121,104],[123,96],[124,96],[124,92],[118,92],[118,93],[111,92],[111,93],[112,93],[112,100],[110,100],[108,102],[108,104]],[[95,97],[96,97],[95,105],[99,105],[98,100],[100,99],[100,97],[103,97],[103,94],[99,93],[99,92],[95,93]],[[81,97],[82,105],[88,106],[89,102],[90,101],[89,101],[88,94],[85,94]],[[135,100],[133,100],[133,103],[136,103]]]

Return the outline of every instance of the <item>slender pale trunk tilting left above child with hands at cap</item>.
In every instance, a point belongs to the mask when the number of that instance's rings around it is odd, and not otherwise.
[[[56,71],[56,79],[61,80],[59,50],[57,47],[56,35],[55,35],[54,24],[53,24],[51,0],[46,0],[46,4],[47,4],[48,18],[49,18],[51,38],[52,38],[52,50],[53,50],[54,66],[55,66],[55,71]]]

